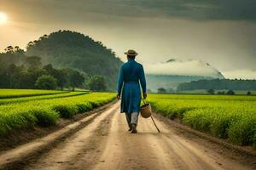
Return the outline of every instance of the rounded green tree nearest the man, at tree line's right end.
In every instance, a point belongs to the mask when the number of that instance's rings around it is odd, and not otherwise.
[[[105,77],[96,75],[96,76],[90,77],[88,86],[90,90],[93,90],[93,91],[105,91],[107,89],[107,82],[105,81]]]

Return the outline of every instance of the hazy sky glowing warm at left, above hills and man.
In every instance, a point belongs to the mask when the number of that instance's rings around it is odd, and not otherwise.
[[[124,61],[132,48],[145,65],[198,59],[227,78],[256,79],[255,8],[256,0],[0,0],[0,50],[71,30]]]

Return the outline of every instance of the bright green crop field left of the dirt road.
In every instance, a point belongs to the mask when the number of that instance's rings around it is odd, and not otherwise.
[[[26,94],[26,90],[14,91],[17,94],[1,90],[1,95],[7,97],[0,99],[0,136],[34,126],[53,126],[60,117],[72,118],[115,99],[111,93],[27,90]]]

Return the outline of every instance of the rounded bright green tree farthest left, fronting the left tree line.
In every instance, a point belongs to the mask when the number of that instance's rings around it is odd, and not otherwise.
[[[41,77],[38,77],[35,86],[41,89],[55,89],[57,87],[57,80],[55,79],[55,77],[43,75]]]

